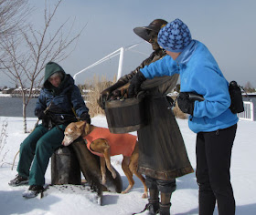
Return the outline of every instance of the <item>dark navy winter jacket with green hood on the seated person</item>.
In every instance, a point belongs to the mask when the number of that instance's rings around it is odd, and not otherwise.
[[[35,114],[37,115],[38,109],[45,110],[47,107],[49,107],[48,111],[61,118],[74,116],[72,107],[79,118],[82,113],[88,114],[89,109],[81,97],[79,87],[74,85],[74,79],[69,74],[66,74],[58,64],[52,64],[54,65],[49,68],[46,67],[45,77],[61,71],[63,80],[59,87],[53,87],[48,82],[48,78],[45,79],[44,87],[41,89],[37,99]]]

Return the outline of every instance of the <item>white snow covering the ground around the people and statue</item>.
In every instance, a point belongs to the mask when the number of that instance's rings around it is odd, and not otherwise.
[[[27,128],[32,129],[37,118],[27,118]],[[196,169],[195,143],[196,134],[187,127],[186,119],[177,119],[186,143],[188,157]],[[142,199],[143,185],[135,176],[135,185],[127,194],[103,192],[102,206],[91,202],[90,198],[80,193],[51,192],[43,199],[25,200],[22,193],[27,186],[10,187],[8,181],[16,176],[12,163],[19,144],[27,134],[23,134],[22,118],[0,117],[0,128],[7,123],[6,144],[0,150],[0,214],[65,214],[65,215],[123,215],[132,214],[144,209],[147,200]],[[92,124],[107,127],[106,118],[98,116],[92,118]],[[255,170],[255,121],[240,121],[237,137],[234,142],[231,160],[231,182],[237,204],[238,215],[256,214],[256,170]],[[136,135],[136,132],[133,132]],[[0,145],[1,147],[1,145]],[[4,159],[4,160],[3,160]],[[128,184],[121,168],[122,156],[112,157],[112,165],[123,179],[123,188]],[[46,181],[50,183],[50,164],[46,173]],[[198,214],[197,182],[195,173],[176,179],[177,189],[172,196],[171,214]],[[217,209],[214,214],[218,214]]]

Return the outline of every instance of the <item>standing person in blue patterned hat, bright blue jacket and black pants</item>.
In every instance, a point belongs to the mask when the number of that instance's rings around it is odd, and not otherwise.
[[[181,20],[164,26],[157,41],[167,56],[133,77],[129,96],[137,94],[146,78],[180,74],[181,93],[177,103],[190,115],[188,126],[197,133],[199,214],[213,214],[217,201],[219,215],[233,215],[235,200],[229,169],[238,117],[229,108],[229,83],[208,48],[192,40]],[[189,92],[202,95],[204,101],[190,100]]]

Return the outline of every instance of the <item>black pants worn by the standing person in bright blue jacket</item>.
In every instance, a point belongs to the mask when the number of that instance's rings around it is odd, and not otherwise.
[[[197,134],[197,183],[199,214],[212,215],[216,201],[219,215],[235,214],[230,183],[231,150],[237,125]]]

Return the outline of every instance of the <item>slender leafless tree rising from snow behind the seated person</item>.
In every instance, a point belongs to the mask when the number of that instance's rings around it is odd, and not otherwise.
[[[0,46],[8,56],[7,61],[0,59],[5,74],[16,85],[21,87],[23,97],[24,132],[27,132],[26,110],[29,100],[33,97],[33,88],[42,82],[41,72],[49,61],[58,61],[67,58],[73,51],[75,42],[83,29],[74,36],[71,35],[74,23],[69,27],[69,18],[59,27],[52,28],[53,19],[62,0],[59,0],[51,10],[46,0],[44,10],[44,26],[39,30],[32,25],[18,28],[20,36],[5,37],[0,41]],[[67,29],[68,28],[68,29]],[[71,48],[71,45],[73,48]]]

